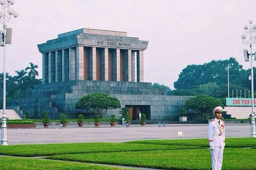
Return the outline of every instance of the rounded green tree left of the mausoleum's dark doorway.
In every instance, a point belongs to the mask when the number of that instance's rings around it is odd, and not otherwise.
[[[100,118],[108,110],[121,108],[119,100],[103,92],[91,93],[83,96],[77,103],[76,109],[82,109],[93,115],[99,115]]]

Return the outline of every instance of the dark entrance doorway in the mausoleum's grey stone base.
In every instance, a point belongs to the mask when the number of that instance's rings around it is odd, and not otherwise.
[[[150,106],[148,105],[125,105],[129,109],[132,120],[140,120],[139,113],[145,114],[147,120],[151,120]]]

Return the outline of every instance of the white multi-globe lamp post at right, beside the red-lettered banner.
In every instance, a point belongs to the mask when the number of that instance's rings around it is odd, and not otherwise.
[[[256,33],[256,25],[253,25],[253,20],[249,20],[249,24],[250,24],[250,28],[248,25],[244,26],[245,29],[245,33],[242,34],[241,38],[243,40],[243,43],[245,44],[249,44],[250,48],[251,48],[251,53],[248,53],[247,49],[244,49],[244,57],[245,57],[245,61],[249,61],[249,56],[251,56],[251,76],[249,77],[249,80],[251,79],[251,95],[252,95],[252,123],[251,123],[251,137],[256,137],[256,130],[255,130],[255,114],[254,114],[254,96],[253,96],[253,66],[252,66],[252,60],[253,60],[253,55],[254,55],[254,60],[256,60],[256,54],[252,53],[252,44],[256,43],[256,35],[253,34]],[[249,39],[247,38],[247,35],[249,34]]]

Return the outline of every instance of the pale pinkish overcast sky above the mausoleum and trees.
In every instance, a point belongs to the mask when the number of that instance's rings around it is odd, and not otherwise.
[[[249,46],[240,37],[249,19],[256,24],[255,0],[16,0],[14,8],[20,16],[17,23],[7,25],[13,28],[12,45],[6,51],[6,71],[11,75],[33,62],[41,78],[37,44],[88,27],[149,41],[144,81],[171,89],[189,64],[233,56],[250,68],[243,58],[243,49]],[[2,72],[3,47],[0,63]]]

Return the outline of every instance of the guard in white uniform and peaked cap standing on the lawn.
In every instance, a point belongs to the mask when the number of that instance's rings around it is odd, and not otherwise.
[[[211,151],[212,170],[221,170],[223,150],[225,147],[225,126],[222,117],[223,108],[218,106],[213,110],[215,119],[208,126],[208,139]]]

